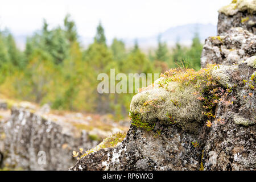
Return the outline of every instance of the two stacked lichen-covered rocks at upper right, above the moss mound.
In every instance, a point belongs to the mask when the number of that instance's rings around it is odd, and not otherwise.
[[[219,10],[218,36],[205,40],[201,67],[207,64],[233,65],[256,52],[256,1],[232,1]]]

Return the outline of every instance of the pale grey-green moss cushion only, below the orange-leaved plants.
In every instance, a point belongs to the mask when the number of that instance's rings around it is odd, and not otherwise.
[[[195,92],[189,86],[169,82],[165,88],[153,88],[134,96],[130,110],[140,114],[142,122],[151,125],[161,121],[166,125],[176,123],[184,129],[193,130],[190,125],[204,118],[201,102],[193,94]]]

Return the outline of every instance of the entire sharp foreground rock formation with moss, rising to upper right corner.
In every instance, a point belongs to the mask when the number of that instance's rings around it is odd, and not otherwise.
[[[233,1],[224,8],[232,14],[221,9],[221,36],[205,41],[204,68],[171,69],[143,88],[131,101],[122,142],[81,152],[70,169],[255,170],[255,26],[233,20],[254,20],[255,5]]]

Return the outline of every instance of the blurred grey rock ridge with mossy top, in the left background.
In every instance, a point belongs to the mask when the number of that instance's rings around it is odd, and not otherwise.
[[[76,162],[74,150],[89,150],[129,127],[106,115],[0,97],[0,169],[67,170]]]

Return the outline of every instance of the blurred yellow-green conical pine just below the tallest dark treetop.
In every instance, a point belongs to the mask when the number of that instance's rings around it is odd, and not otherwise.
[[[56,85],[59,86],[55,87],[58,94],[53,102],[53,108],[77,110],[85,106],[84,100],[79,98],[80,87],[84,86],[82,80],[86,81],[83,77],[85,68],[83,63],[79,43],[74,42],[69,51],[68,59],[65,59],[61,65],[61,77],[55,81]],[[62,86],[59,84],[60,81],[62,81]],[[86,89],[86,91],[88,90]]]

